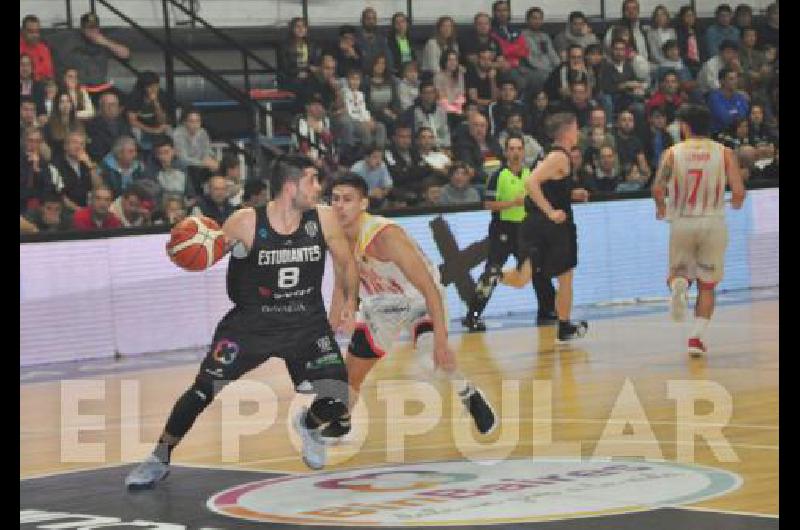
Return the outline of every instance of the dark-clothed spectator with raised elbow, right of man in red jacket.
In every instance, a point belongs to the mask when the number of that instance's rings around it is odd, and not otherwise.
[[[80,32],[58,47],[57,59],[63,66],[73,65],[78,69],[78,77],[83,81],[90,94],[109,88],[108,58],[114,55],[126,60],[131,52],[127,46],[120,44],[100,31],[100,20],[94,13],[81,16]]]

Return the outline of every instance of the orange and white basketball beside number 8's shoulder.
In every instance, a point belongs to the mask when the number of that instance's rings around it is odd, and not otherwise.
[[[208,217],[187,217],[170,232],[167,255],[184,270],[206,270],[224,253],[225,236],[217,222]]]

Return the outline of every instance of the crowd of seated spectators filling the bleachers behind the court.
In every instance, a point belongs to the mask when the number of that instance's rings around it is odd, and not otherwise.
[[[514,4],[515,9],[519,3]],[[475,203],[503,164],[504,141],[522,135],[526,164],[549,148],[547,117],[578,117],[572,177],[595,192],[646,190],[661,153],[680,140],[685,102],[708,105],[717,140],[735,149],[745,179],[778,178],[778,5],[716,8],[701,27],[690,6],[643,19],[638,0],[595,34],[581,12],[544,30],[531,7],[510,23],[508,2],[460,27],[436,21],[412,41],[403,13],[378,26],[374,8],[333,43],[293,19],[277,52],[278,83],[296,95],[290,150],[333,176],[354,171],[371,206]],[[762,16],[763,15],[763,16]],[[263,204],[265,184],[243,182],[239,158],[217,159],[201,113],[176,102],[145,72],[130,94],[108,83],[108,60],[126,46],[81,18],[57,57],[35,16],[20,33],[20,230],[170,224],[187,214],[223,221]]]

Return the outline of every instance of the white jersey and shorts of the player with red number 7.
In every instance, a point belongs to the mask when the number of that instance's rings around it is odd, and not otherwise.
[[[725,224],[725,147],[693,138],[671,148],[667,187],[670,276],[707,285],[722,280],[728,229]]]

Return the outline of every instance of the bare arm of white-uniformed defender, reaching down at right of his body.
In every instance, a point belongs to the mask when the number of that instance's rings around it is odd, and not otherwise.
[[[370,255],[391,261],[425,298],[428,314],[433,321],[434,356],[437,365],[446,371],[455,369],[455,355],[447,343],[447,322],[444,302],[425,258],[419,248],[399,226],[387,226],[375,236],[369,246]]]

